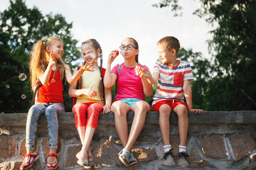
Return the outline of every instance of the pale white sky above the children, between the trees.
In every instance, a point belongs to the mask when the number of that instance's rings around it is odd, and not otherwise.
[[[139,63],[152,71],[158,53],[156,43],[166,36],[174,36],[181,47],[202,52],[209,58],[209,33],[213,30],[204,18],[193,15],[200,8],[199,0],[179,0],[182,16],[174,17],[171,8],[155,8],[152,4],[159,0],[26,0],[26,6],[36,6],[44,15],[60,13],[68,23],[73,23],[71,33],[81,43],[96,39],[103,51],[103,67],[112,50],[119,50],[124,38],[132,37],[139,43]],[[0,11],[9,6],[9,0],[0,1]],[[64,49],[65,50],[65,49]],[[82,55],[81,55],[82,62]],[[124,62],[122,55],[114,60],[114,65]]]

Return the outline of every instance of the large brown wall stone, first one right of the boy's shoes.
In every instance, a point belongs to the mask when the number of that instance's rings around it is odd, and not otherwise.
[[[225,149],[225,143],[223,136],[210,135],[201,137],[202,151],[206,154],[206,157],[214,159],[227,159],[228,154]]]

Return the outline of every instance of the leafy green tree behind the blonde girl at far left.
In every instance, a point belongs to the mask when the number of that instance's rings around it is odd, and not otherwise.
[[[77,60],[80,57],[80,52],[75,47],[78,40],[72,38],[71,28],[72,23],[67,23],[60,14],[50,13],[43,16],[38,8],[28,8],[23,0],[10,0],[9,8],[0,13],[1,112],[28,111],[32,98],[28,56],[37,40],[49,36],[59,37],[64,44],[63,60],[68,57]],[[18,79],[21,73],[26,74],[25,81]],[[65,84],[65,89],[68,89],[68,83]],[[21,98],[22,94],[26,95],[25,99]],[[65,91],[64,96],[66,110],[70,111],[72,102],[68,96],[68,90]]]

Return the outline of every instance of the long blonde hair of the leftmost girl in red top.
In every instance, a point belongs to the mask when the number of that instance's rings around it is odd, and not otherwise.
[[[33,91],[33,87],[36,85],[37,81],[39,81],[39,75],[42,72],[46,72],[46,68],[48,66],[48,61],[50,61],[49,52],[46,51],[47,46],[53,45],[54,42],[60,41],[60,38],[50,37],[46,40],[38,40],[31,50],[31,54],[29,55],[29,71],[31,74],[30,81],[31,81],[31,89]],[[63,43],[63,42],[62,42]],[[60,58],[56,63],[55,72],[60,69],[60,77],[63,79],[64,77],[64,62]]]

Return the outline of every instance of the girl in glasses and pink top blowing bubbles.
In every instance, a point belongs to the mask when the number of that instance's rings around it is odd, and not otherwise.
[[[137,164],[137,160],[132,151],[132,146],[137,140],[139,133],[144,126],[146,112],[150,111],[149,103],[146,103],[144,95],[151,97],[153,88],[145,79],[138,77],[134,71],[135,67],[142,66],[138,62],[139,45],[133,38],[125,38],[120,46],[124,57],[124,63],[117,64],[110,71],[111,64],[118,55],[117,50],[110,52],[104,84],[106,88],[111,88],[117,81],[117,94],[112,103],[111,111],[114,113],[114,124],[117,134],[122,142],[122,149],[119,152],[119,159],[125,166]],[[117,69],[120,69],[119,73]],[[128,135],[127,113],[134,112],[132,128]]]

